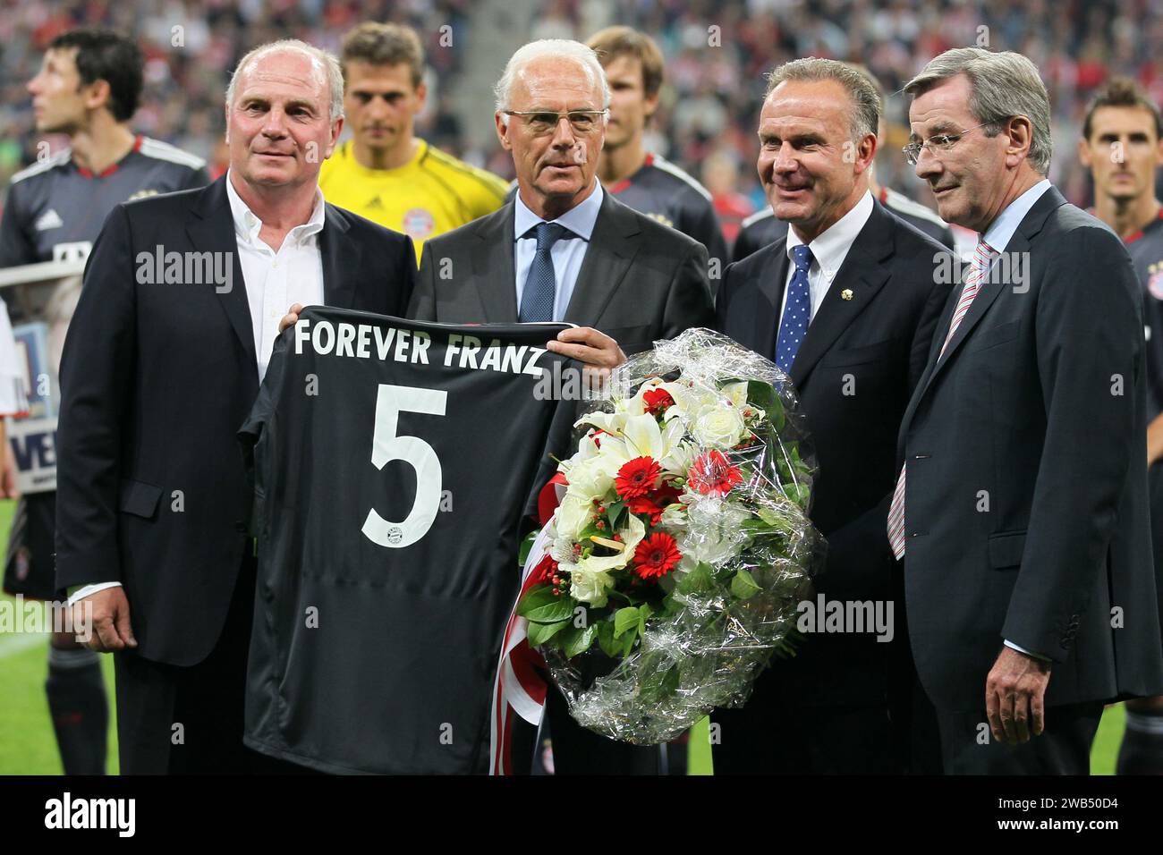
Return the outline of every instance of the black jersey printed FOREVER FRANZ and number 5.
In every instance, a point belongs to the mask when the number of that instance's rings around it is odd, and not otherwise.
[[[547,394],[576,365],[544,349],[566,326],[311,307],[281,335],[240,433],[247,744],[329,772],[487,770],[522,507],[576,408]]]

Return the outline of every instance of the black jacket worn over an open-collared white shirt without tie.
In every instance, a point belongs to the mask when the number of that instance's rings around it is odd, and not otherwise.
[[[233,286],[142,284],[137,257],[229,254]],[[400,315],[412,241],[326,206],[328,305]],[[222,256],[219,256],[222,257]],[[226,178],[119,205],[60,362],[57,585],[121,582],[145,658],[200,662],[234,591],[251,497],[236,434],[258,393]]]

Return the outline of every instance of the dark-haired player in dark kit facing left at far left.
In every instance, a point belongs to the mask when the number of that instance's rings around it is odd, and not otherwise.
[[[137,47],[115,33],[77,29],[49,44],[28,92],[37,131],[65,134],[70,148],[13,176],[0,223],[0,268],[84,261],[119,202],[209,181],[201,158],[130,129],[142,64]],[[6,591],[56,598],[55,514],[56,492],[21,498]],[[45,690],[64,771],[104,775],[108,708],[98,655],[71,633],[53,634]]]

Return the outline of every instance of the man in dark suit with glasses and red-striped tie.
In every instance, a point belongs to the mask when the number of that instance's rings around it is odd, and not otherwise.
[[[1103,704],[1163,689],[1139,285],[1046,179],[1026,57],[949,50],[905,91],[909,162],[980,233],[898,442],[914,707],[946,772],[1085,775]]]

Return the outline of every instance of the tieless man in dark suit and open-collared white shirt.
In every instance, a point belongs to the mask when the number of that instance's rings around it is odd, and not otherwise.
[[[404,311],[411,241],[323,201],[343,126],[334,57],[244,57],[230,169],[117,206],[60,366],[57,584],[114,651],[122,772],[270,769],[242,744],[255,561],[236,441],[286,306]]]

